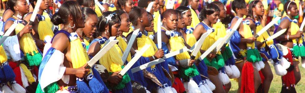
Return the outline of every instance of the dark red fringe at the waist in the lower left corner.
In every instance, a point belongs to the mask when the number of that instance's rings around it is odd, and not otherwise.
[[[19,66],[17,65],[17,63],[15,63],[15,62],[9,62],[8,64],[10,65],[10,67],[13,69],[13,71],[14,71],[14,73],[15,73],[15,76],[16,76],[16,77],[15,77],[15,81],[16,81],[19,85],[23,86],[22,80],[21,80],[20,68],[19,68]]]

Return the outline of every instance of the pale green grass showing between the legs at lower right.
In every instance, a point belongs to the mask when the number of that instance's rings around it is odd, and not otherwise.
[[[281,89],[282,89],[281,76],[278,76],[278,75],[275,74],[273,65],[270,64],[270,66],[271,66],[272,73],[273,73],[273,80],[271,82],[269,93],[280,93]],[[304,78],[305,69],[302,67],[301,63],[299,63],[299,68],[300,68],[300,71],[301,71],[302,78],[301,78],[300,82],[297,83],[296,90],[297,90],[298,93],[305,93],[305,78]],[[231,83],[232,83],[232,86],[231,86],[231,89],[230,89],[229,93],[237,93],[238,83],[236,81],[231,81]]]

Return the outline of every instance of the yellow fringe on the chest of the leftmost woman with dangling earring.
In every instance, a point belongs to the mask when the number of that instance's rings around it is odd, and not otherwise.
[[[23,27],[23,24],[17,24],[15,28],[16,34],[18,34],[23,29]],[[36,44],[30,33],[26,33],[21,37],[21,39],[19,40],[19,45],[24,55],[26,55],[26,53],[34,55],[34,51],[38,53]]]

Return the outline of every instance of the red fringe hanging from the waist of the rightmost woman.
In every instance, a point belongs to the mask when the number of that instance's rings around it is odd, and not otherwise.
[[[292,60],[292,54],[290,52],[290,49],[288,49],[288,54],[283,56],[284,58],[288,58],[288,61],[293,65],[293,60]],[[290,87],[291,85],[295,84],[295,77],[294,77],[294,72],[292,71],[287,71],[287,74],[282,76],[282,83],[286,85],[286,87]]]

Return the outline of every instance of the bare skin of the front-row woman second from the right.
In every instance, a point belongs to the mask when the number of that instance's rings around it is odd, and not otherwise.
[[[257,2],[256,6],[252,7],[252,8],[249,8],[250,10],[249,11],[252,11],[252,15],[256,15],[257,17],[248,17],[248,18],[252,18],[254,20],[262,20],[262,16],[264,15],[264,7],[262,5],[262,2]],[[256,34],[256,25],[255,23],[250,20],[250,19],[246,19],[246,20],[249,20],[250,21],[250,28],[251,30],[254,31],[254,35]],[[262,46],[262,42],[260,41],[255,41],[256,42],[256,45],[257,45],[257,48],[260,49],[260,47]],[[267,46],[266,46],[267,47]],[[263,90],[265,93],[267,93],[269,91],[269,88],[270,88],[270,84],[272,82],[272,79],[273,79],[273,74],[272,74],[272,71],[271,71],[271,68],[270,68],[270,65],[267,61],[264,61],[264,64],[265,64],[265,67],[263,69],[261,69],[262,71],[262,74],[264,75],[265,77],[265,80],[263,82]]]

